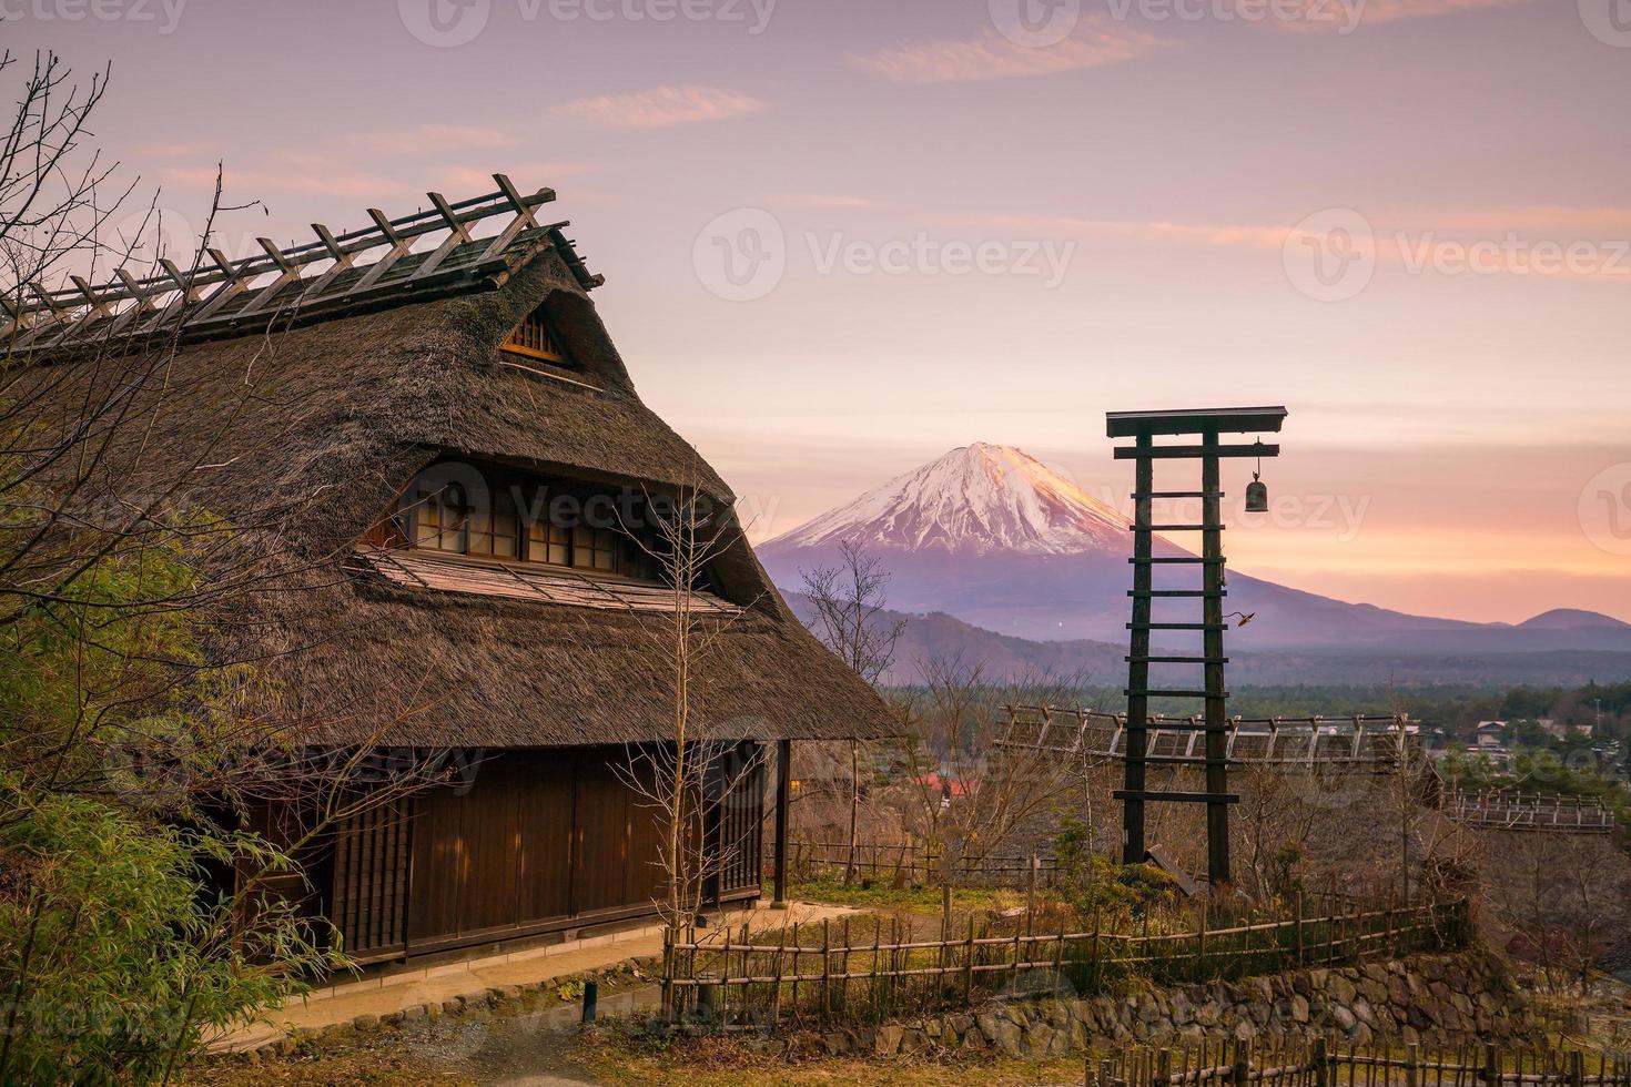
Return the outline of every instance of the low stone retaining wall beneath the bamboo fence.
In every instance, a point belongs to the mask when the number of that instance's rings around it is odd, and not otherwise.
[[[1124,997],[1018,997],[977,1012],[789,1038],[785,1048],[877,1056],[993,1048],[1006,1056],[1055,1056],[1094,1041],[1181,1048],[1323,1036],[1344,1046],[1456,1045],[1527,1040],[1535,1030],[1505,968],[1486,953],[1461,952]]]

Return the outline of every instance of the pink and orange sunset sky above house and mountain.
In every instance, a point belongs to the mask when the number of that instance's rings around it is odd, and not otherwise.
[[[235,254],[555,187],[757,538],[975,440],[1114,495],[1106,411],[1284,403],[1264,477],[1302,512],[1233,566],[1631,619],[1626,0],[0,11],[13,52],[113,62],[96,142],[184,249],[217,160],[267,212]]]

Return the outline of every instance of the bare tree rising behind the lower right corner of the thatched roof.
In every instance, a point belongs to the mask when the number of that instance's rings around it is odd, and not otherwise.
[[[802,570],[804,595],[816,608],[816,636],[863,680],[876,684],[895,658],[905,619],[889,619],[889,570],[866,546],[838,543],[838,566]],[[850,740],[850,836],[843,882],[855,880],[855,851],[861,825],[861,742]]]

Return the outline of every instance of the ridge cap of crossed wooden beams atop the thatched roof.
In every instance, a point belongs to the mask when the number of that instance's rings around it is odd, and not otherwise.
[[[240,336],[277,319],[344,316],[499,284],[545,249],[561,254],[584,290],[605,282],[561,233],[568,222],[538,223],[535,210],[555,199],[553,189],[524,196],[504,174],[493,179],[496,192],[458,202],[429,192],[431,210],[400,218],[370,207],[372,223],[343,235],[312,223],[316,241],[303,244],[256,238],[263,253],[236,262],[210,246],[189,269],[160,259],[160,271],[140,279],[121,267],[101,284],[80,275],[59,290],[18,284],[0,293],[0,344],[34,354],[176,334]],[[471,227],[494,215],[511,220],[478,238]],[[445,236],[413,251],[431,235]]]

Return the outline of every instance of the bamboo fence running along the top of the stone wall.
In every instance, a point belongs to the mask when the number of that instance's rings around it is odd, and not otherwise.
[[[1093,996],[1138,975],[1165,984],[1240,978],[1297,966],[1328,966],[1465,947],[1468,903],[1362,904],[1210,929],[1151,931],[1106,926],[1037,934],[1014,926],[993,932],[967,919],[962,932],[923,934],[910,921],[877,919],[871,940],[837,926],[793,924],[749,939],[737,931],[667,932],[662,952],[665,1007],[724,1028],[793,1020],[884,1022],[910,1014],[975,1007],[992,997]]]

